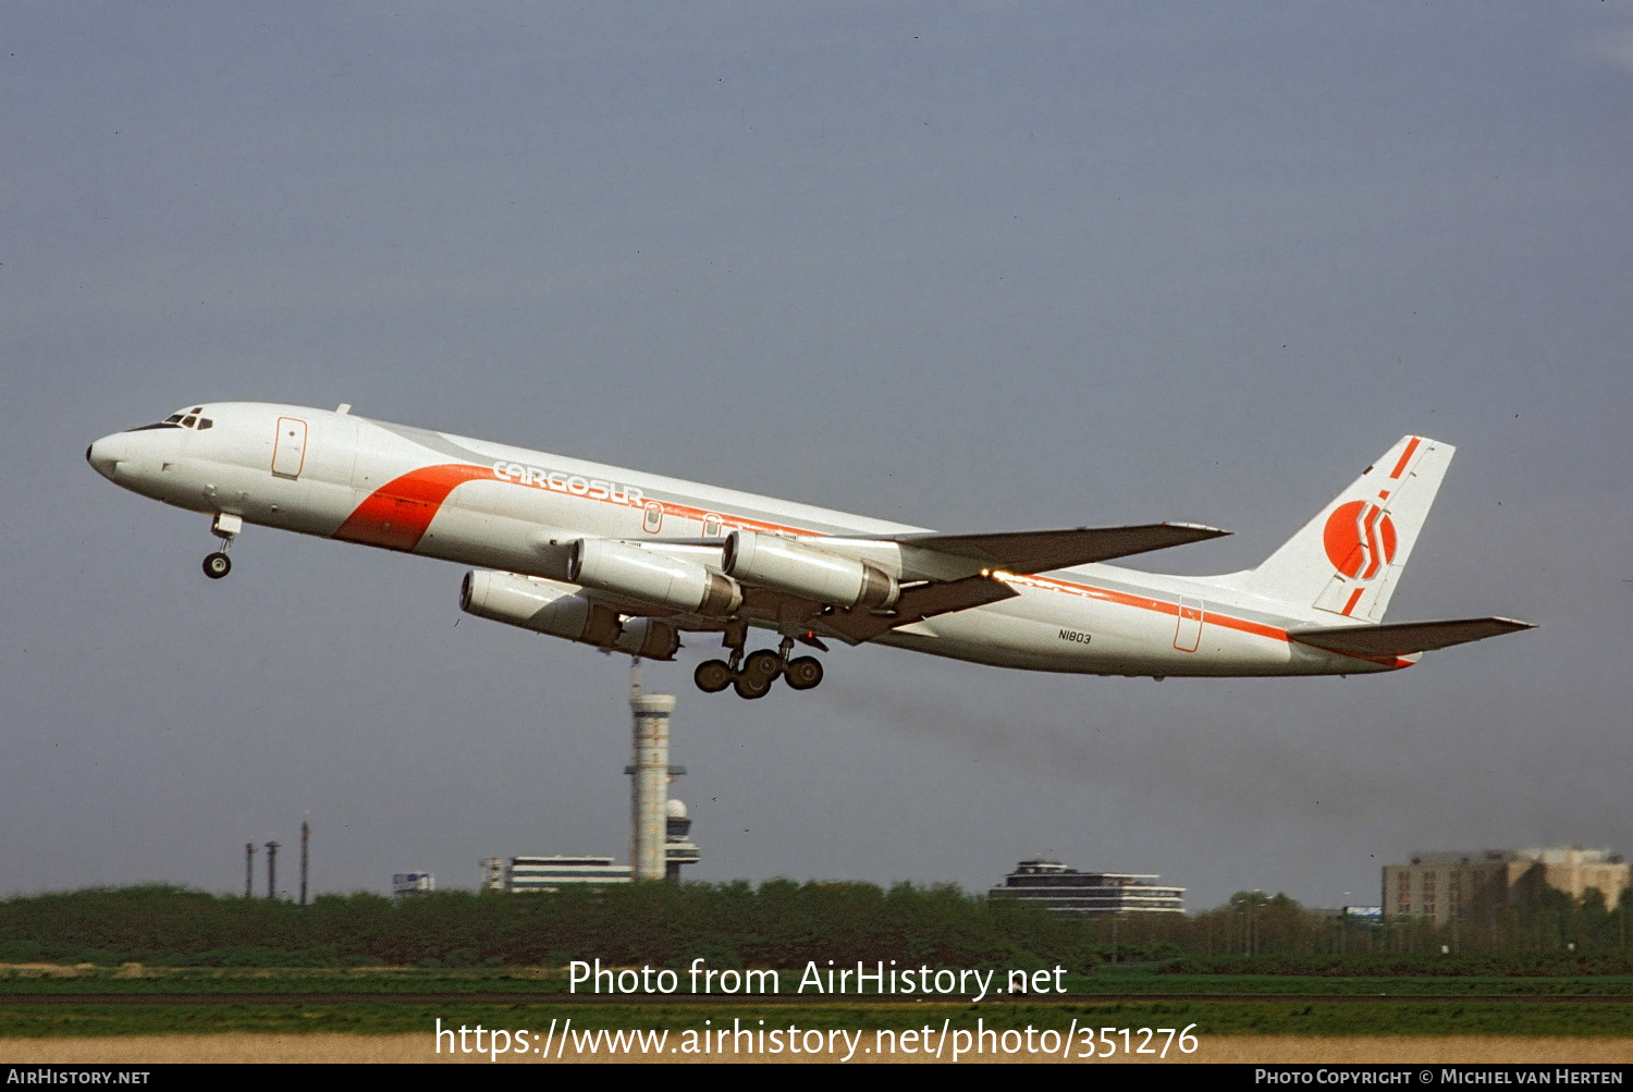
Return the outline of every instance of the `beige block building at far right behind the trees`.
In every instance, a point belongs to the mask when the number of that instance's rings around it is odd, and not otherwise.
[[[1597,888],[1615,908],[1628,881],[1626,860],[1605,849],[1419,852],[1411,863],[1383,867],[1383,912],[1435,926],[1486,921],[1511,906],[1535,906],[1548,888],[1573,899]]]

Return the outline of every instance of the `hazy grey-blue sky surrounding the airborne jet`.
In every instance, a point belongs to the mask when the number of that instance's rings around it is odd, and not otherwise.
[[[1024,855],[1375,901],[1417,847],[1630,837],[1633,7],[0,8],[0,891],[318,890],[627,852],[627,659],[461,570],[83,462],[333,406],[946,530],[1179,519],[1257,563],[1396,437],[1458,447],[1352,679],[834,650],[679,695],[694,877]],[[456,622],[459,624],[456,627]]]

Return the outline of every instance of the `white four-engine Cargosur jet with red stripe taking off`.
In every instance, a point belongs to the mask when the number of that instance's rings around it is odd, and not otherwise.
[[[335,411],[194,405],[85,457],[108,480],[206,513],[225,576],[245,524],[475,565],[461,607],[634,656],[719,633],[709,692],[764,697],[823,677],[823,638],[1107,676],[1393,671],[1530,628],[1511,619],[1383,625],[1452,447],[1406,436],[1262,565],[1161,576],[1101,562],[1213,539],[1195,524],[937,534],[565,455]],[[781,637],[746,653],[750,630]],[[745,655],[746,653],[746,655]]]

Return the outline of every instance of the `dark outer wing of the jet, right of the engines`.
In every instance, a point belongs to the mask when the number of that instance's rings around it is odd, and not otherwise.
[[[905,547],[950,553],[1006,573],[1048,573],[1073,565],[1109,562],[1114,557],[1163,550],[1187,542],[1228,535],[1199,524],[1145,524],[1143,527],[1070,527],[1066,530],[1004,530],[990,535],[897,535]]]

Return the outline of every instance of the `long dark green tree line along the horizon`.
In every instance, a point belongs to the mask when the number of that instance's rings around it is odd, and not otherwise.
[[[601,958],[686,966],[702,957],[717,968],[895,960],[1078,973],[1115,963],[1192,973],[1633,973],[1630,909],[1633,891],[1618,896],[1618,909],[1597,891],[1581,901],[1546,891],[1535,906],[1435,927],[1337,919],[1261,891],[1200,914],[1089,919],[910,883],[356,893],[322,894],[310,906],[134,886],[0,901],[0,963],[562,966]]]

